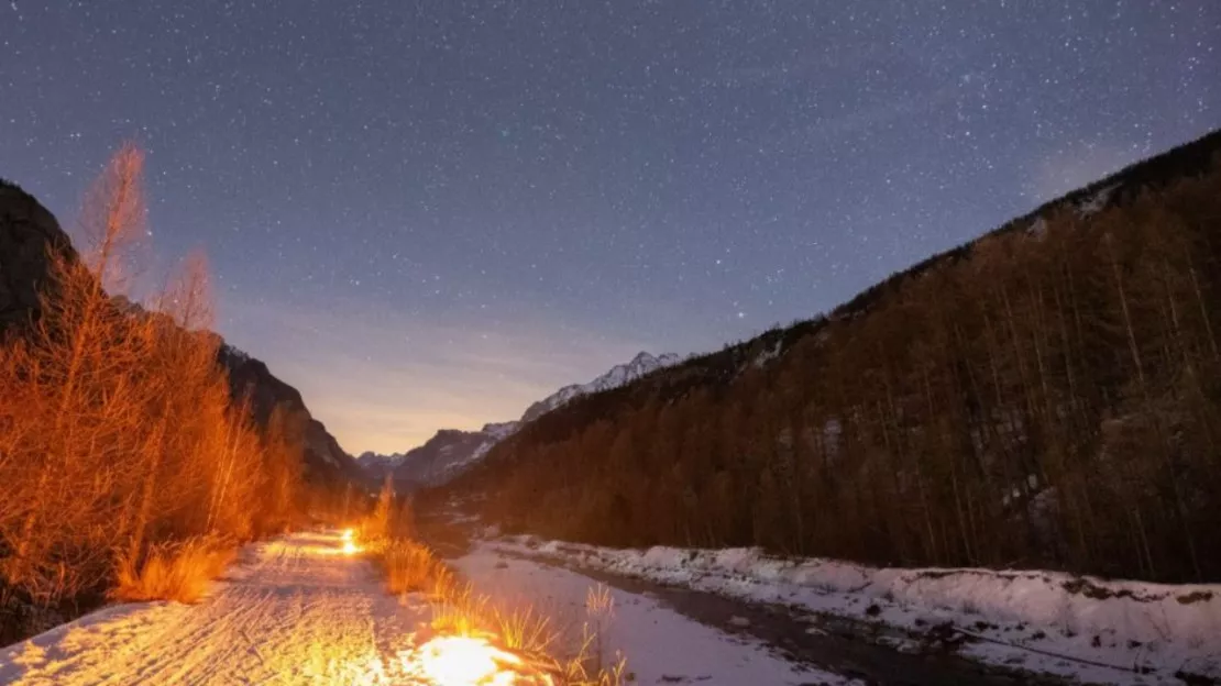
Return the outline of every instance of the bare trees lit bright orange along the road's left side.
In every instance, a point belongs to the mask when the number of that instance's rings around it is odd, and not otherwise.
[[[306,504],[300,437],[230,397],[195,260],[145,311],[120,298],[144,234],[142,154],[85,199],[83,258],[49,250],[38,316],[0,347],[0,635],[37,608],[92,604],[120,568],[199,537],[282,530]],[[72,614],[67,612],[66,614]]]

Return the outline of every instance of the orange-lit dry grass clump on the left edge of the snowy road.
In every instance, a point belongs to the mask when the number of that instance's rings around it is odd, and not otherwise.
[[[208,591],[208,582],[233,561],[236,549],[214,538],[197,537],[177,544],[154,546],[137,569],[136,560],[118,560],[116,601],[177,601],[194,603]]]

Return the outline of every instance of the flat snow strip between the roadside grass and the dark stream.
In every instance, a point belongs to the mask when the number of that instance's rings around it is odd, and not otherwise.
[[[452,560],[477,592],[497,599],[529,603],[553,618],[567,634],[580,636],[585,601],[596,581],[578,572],[529,559],[505,559],[493,544],[476,544]],[[608,590],[613,618],[603,627],[604,660],[615,652],[626,658],[635,684],[701,684],[705,686],[851,684],[844,676],[808,669],[774,655],[761,642],[730,636],[662,607],[656,599]],[[741,619],[741,618],[739,618]]]

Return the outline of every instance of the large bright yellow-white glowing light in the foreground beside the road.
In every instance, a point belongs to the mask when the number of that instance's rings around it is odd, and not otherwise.
[[[484,638],[438,636],[403,658],[418,665],[421,676],[438,686],[512,686],[524,682],[521,658]],[[546,679],[543,682],[549,681]]]

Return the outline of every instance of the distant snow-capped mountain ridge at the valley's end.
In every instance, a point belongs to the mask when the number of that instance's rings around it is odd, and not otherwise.
[[[589,383],[565,386],[531,404],[518,421],[487,424],[479,431],[442,428],[427,443],[407,453],[389,455],[364,453],[358,461],[374,478],[382,478],[387,472],[392,474],[400,489],[438,486],[476,464],[497,443],[540,416],[581,395],[618,388],[658,369],[676,364],[681,359],[675,354],[653,356],[640,353],[631,361],[610,367]]]

